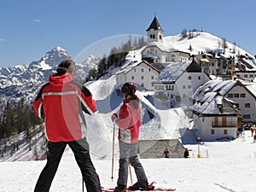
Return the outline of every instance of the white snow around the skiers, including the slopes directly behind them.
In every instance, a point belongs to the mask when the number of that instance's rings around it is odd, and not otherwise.
[[[113,123],[122,102],[113,91],[114,78],[88,84],[96,97],[98,113],[87,116],[90,153],[102,186],[114,187],[118,178],[119,149],[115,135],[114,171],[112,172]],[[182,108],[156,109],[137,91],[143,108],[154,110],[154,119],[144,116],[140,139],[181,138],[184,130],[191,128],[191,121]],[[157,101],[155,101],[157,102]],[[188,131],[189,132],[189,131]],[[187,143],[195,138],[186,134]],[[194,142],[195,143],[195,142]],[[155,186],[176,188],[178,192],[253,192],[256,191],[256,143],[250,131],[234,141],[185,144],[191,149],[189,159],[142,159],[149,182]],[[32,152],[31,152],[32,153]],[[172,153],[172,151],[171,151]],[[197,158],[198,154],[201,158]],[[26,154],[28,155],[28,154]],[[14,154],[15,156],[15,154]],[[31,192],[46,160],[0,162],[0,192]],[[132,170],[132,169],[131,169]],[[132,181],[137,181],[131,172]],[[131,179],[128,181],[131,184]],[[63,154],[61,164],[50,191],[82,191],[82,177],[70,148]]]

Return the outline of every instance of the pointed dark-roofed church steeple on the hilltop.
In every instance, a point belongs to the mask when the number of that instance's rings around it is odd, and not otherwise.
[[[164,30],[162,29],[162,27],[160,26],[156,15],[154,15],[154,20],[152,21],[152,23],[150,24],[150,26],[148,27],[147,31],[147,42],[148,44],[150,44],[151,42],[163,42],[163,34],[164,34]]]

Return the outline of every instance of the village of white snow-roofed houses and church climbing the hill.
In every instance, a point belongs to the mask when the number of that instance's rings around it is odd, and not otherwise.
[[[204,141],[236,138],[237,128],[253,127],[256,62],[252,55],[217,37],[211,48],[195,50],[196,41],[212,38],[198,31],[183,32],[179,38],[188,49],[177,49],[171,37],[164,37],[156,16],[146,32],[147,45],[139,56],[128,55],[136,61],[116,73],[117,90],[132,81],[140,90],[154,91],[154,99],[166,108],[191,106],[197,137]]]

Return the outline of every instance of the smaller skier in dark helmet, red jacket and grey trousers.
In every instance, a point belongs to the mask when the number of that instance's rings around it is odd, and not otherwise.
[[[137,183],[130,189],[148,189],[148,178],[137,157],[139,129],[142,122],[139,99],[135,95],[136,86],[131,82],[125,83],[121,91],[125,100],[119,110],[119,117],[116,113],[111,116],[111,119],[119,126],[119,178],[114,192],[125,189],[129,163],[134,167],[137,176]]]

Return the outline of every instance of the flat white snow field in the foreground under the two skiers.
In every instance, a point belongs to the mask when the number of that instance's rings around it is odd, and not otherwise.
[[[253,143],[250,131],[246,131],[245,137],[235,141],[201,144],[201,159],[197,158],[198,145],[186,147],[192,149],[189,152],[190,159],[141,160],[148,180],[157,182],[156,186],[173,187],[182,192],[255,191],[256,143]],[[111,149],[108,151],[111,152]],[[98,154],[100,155],[101,151],[98,151]],[[112,162],[109,157],[101,159],[92,154],[102,186],[114,187],[118,177],[118,158],[115,157],[114,160],[112,181]],[[45,160],[0,163],[0,191],[32,191],[44,165]],[[133,183],[136,182],[134,172],[132,179]],[[50,191],[82,191],[81,174],[69,148],[63,155]]]

